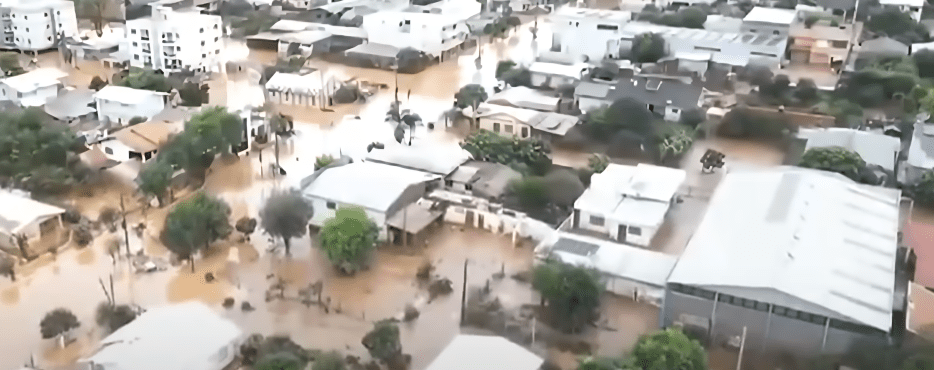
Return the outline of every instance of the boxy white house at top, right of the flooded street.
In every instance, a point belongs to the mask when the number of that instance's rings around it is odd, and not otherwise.
[[[551,15],[552,52],[575,59],[599,62],[623,59],[622,29],[632,20],[631,12],[564,7]]]

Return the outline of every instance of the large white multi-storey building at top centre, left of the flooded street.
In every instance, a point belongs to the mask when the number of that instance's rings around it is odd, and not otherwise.
[[[477,4],[479,5],[479,3]],[[381,11],[363,17],[367,42],[414,48],[442,61],[470,35],[464,20],[448,14]]]

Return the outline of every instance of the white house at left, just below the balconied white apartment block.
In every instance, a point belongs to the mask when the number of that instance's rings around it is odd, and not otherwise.
[[[104,123],[126,125],[134,117],[147,120],[166,106],[168,94],[132,89],[129,87],[107,85],[94,94],[97,103],[97,116]]]

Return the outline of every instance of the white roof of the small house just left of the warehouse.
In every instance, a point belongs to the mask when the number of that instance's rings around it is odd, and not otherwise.
[[[590,187],[577,198],[574,208],[627,225],[658,226],[686,178],[680,169],[611,163],[591,177]]]

